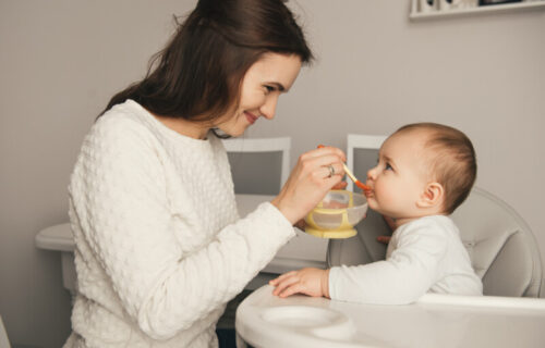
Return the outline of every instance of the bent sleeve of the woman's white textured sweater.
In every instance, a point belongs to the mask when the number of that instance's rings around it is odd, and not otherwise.
[[[118,121],[105,121],[116,123]],[[86,241],[124,311],[167,339],[218,310],[294,234],[270,203],[184,251],[168,209],[166,176],[153,139],[137,125],[97,126],[84,141],[70,192]],[[183,219],[182,219],[183,220]],[[195,235],[198,231],[184,232]],[[198,325],[198,324],[197,324]]]

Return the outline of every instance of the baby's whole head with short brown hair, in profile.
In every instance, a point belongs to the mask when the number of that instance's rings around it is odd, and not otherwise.
[[[452,213],[476,177],[475,151],[460,130],[435,123],[405,125],[383,144],[367,173],[370,208],[395,219]]]

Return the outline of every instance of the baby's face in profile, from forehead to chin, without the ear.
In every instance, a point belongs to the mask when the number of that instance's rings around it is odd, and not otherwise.
[[[378,163],[367,172],[370,208],[395,219],[417,217],[417,200],[429,178],[423,130],[393,134],[383,144]]]

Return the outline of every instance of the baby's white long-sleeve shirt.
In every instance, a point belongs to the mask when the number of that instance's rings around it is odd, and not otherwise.
[[[329,271],[331,299],[402,304],[426,293],[483,294],[458,227],[448,216],[425,216],[398,227],[385,261]]]

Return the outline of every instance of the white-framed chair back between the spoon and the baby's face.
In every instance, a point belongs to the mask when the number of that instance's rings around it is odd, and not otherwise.
[[[349,134],[347,140],[347,166],[355,177],[365,183],[367,171],[376,165],[378,149],[386,140],[382,135]],[[347,189],[353,190],[352,181],[347,181]]]

